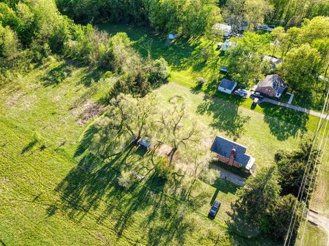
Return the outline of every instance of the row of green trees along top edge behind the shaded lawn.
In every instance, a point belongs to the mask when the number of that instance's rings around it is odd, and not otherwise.
[[[127,22],[182,36],[201,35],[221,20],[219,8],[212,0],[57,0],[56,3],[63,14],[78,23]]]

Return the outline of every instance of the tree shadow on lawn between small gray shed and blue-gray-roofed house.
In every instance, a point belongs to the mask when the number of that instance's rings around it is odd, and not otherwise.
[[[243,98],[233,97],[230,101],[220,98],[204,97],[204,102],[197,106],[197,113],[200,115],[211,115],[210,126],[226,135],[241,137],[245,131],[245,124],[249,121],[249,116],[239,114],[239,105]]]

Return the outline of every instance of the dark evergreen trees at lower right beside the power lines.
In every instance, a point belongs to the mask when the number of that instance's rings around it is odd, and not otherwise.
[[[261,169],[257,176],[249,178],[245,187],[238,191],[239,200],[232,205],[234,213],[243,211],[244,216],[263,234],[277,241],[284,241],[291,216],[294,216],[295,224],[291,230],[294,241],[302,222],[306,195],[309,193],[306,200],[308,206],[315,189],[312,173],[313,169],[317,171],[319,163],[312,156],[321,156],[321,152],[312,147],[312,139],[305,136],[297,149],[278,151],[276,165]],[[305,179],[302,180],[304,173]],[[301,193],[300,186],[305,187]]]

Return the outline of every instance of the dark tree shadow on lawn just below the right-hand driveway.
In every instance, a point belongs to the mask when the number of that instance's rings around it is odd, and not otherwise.
[[[268,102],[262,102],[259,106],[263,108],[264,121],[269,125],[271,134],[278,140],[284,141],[289,137],[296,137],[300,131],[302,133],[307,131],[307,113],[272,105]]]

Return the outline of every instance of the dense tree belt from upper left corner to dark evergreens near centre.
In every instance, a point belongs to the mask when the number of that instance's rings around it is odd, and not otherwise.
[[[5,71],[40,64],[49,55],[62,55],[117,74],[112,94],[145,96],[169,77],[163,59],[144,59],[126,33],[109,36],[92,25],[80,25],[58,12],[54,1],[0,2],[1,80]]]

